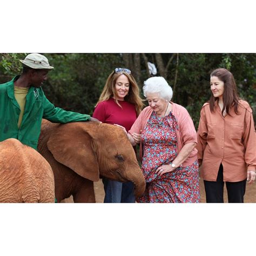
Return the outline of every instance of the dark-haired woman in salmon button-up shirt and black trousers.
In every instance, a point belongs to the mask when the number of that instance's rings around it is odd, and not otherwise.
[[[246,180],[255,179],[255,140],[252,109],[239,99],[232,73],[211,73],[210,101],[201,109],[198,161],[206,202],[223,203],[226,182],[228,203],[243,203]]]

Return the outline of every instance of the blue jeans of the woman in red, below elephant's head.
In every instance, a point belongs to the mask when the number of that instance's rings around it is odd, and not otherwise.
[[[134,185],[131,181],[122,183],[107,178],[102,181],[105,190],[104,203],[135,203]]]

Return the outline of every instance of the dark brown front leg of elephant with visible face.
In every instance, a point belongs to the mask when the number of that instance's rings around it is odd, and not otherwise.
[[[84,180],[77,192],[73,194],[74,203],[96,203],[93,181]]]

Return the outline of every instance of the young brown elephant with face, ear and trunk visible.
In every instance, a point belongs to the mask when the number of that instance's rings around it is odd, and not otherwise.
[[[75,203],[94,203],[93,181],[99,175],[132,181],[135,196],[145,191],[145,179],[125,133],[96,122],[42,122],[38,151],[50,163],[58,202],[73,196]]]

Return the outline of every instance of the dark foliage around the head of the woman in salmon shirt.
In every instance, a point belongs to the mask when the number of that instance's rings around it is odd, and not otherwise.
[[[166,53],[167,55],[168,53]],[[217,68],[230,70],[242,99],[256,111],[256,54],[245,53],[182,53],[179,55],[178,79],[173,101],[186,107],[198,127],[200,109],[210,99],[210,73]],[[175,63],[168,79],[173,87]]]

